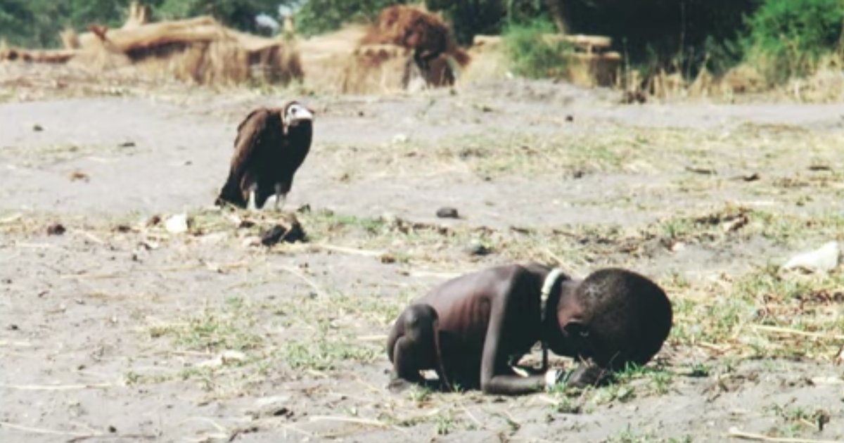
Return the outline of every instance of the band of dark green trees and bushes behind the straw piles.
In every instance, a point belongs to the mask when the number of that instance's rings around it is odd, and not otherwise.
[[[65,27],[122,23],[131,0],[0,0],[0,39],[21,46],[56,46]],[[255,31],[255,15],[295,11],[297,30],[314,35],[376,17],[407,0],[147,0],[153,19],[211,14]],[[553,51],[532,45],[555,30],[609,35],[614,49],[647,76],[665,70],[694,77],[753,62],[772,82],[811,73],[841,43],[844,0],[427,0],[454,25],[457,40],[503,34],[511,53],[540,59],[534,74],[555,72]],[[514,50],[513,48],[519,48]],[[535,48],[535,49],[532,49]],[[535,53],[533,53],[535,52]],[[548,62],[545,61],[548,59]]]

